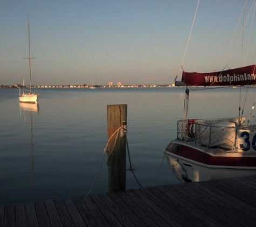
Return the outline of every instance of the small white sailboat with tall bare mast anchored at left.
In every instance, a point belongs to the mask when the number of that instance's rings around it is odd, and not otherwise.
[[[30,75],[30,89],[29,93],[25,93],[24,90],[24,80],[23,80],[23,93],[20,93],[19,89],[19,102],[23,103],[37,103],[39,94],[32,93],[32,79],[31,79],[31,56],[30,56],[30,32],[29,32],[29,15],[27,15],[27,32],[28,32],[28,39],[29,39],[29,75]]]

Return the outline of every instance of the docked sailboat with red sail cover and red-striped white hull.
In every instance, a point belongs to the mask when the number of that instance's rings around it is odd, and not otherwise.
[[[177,179],[191,182],[255,175],[256,117],[243,116],[239,108],[237,117],[190,119],[188,108],[189,91],[195,89],[192,86],[246,89],[256,84],[256,65],[212,73],[182,71],[176,84],[185,86],[184,118],[177,122],[176,139],[164,148]]]

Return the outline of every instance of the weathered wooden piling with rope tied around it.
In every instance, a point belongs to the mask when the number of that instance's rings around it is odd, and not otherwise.
[[[126,104],[107,105],[109,192],[126,190],[126,137],[121,137],[122,129],[114,134],[126,122]]]

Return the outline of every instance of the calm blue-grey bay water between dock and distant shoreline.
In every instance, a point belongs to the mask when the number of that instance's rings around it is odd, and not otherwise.
[[[191,91],[190,118],[237,116],[239,90]],[[18,89],[0,89],[0,204],[86,195],[107,143],[109,104],[127,104],[132,165],[143,187],[153,185],[162,150],[176,137],[176,122],[182,119],[185,88],[38,91],[37,109],[18,102]],[[255,88],[248,90],[245,116],[250,114],[255,95]],[[175,183],[164,160],[156,185]],[[139,185],[127,172],[127,189],[132,188]],[[91,194],[107,190],[106,155]]]

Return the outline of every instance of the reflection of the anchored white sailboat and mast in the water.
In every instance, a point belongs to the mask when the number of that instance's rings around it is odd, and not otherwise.
[[[19,109],[20,109],[20,117],[22,116],[22,112],[24,115],[24,124],[26,123],[26,115],[29,113],[30,116],[30,146],[31,146],[31,152],[30,152],[30,158],[31,158],[31,185],[34,186],[34,158],[33,158],[33,113],[39,112],[39,105],[38,103],[32,104],[32,103],[19,103]]]

